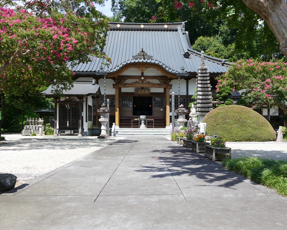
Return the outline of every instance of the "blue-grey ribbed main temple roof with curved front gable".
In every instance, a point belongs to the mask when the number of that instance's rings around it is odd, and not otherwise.
[[[142,48],[152,56],[152,59],[133,58]],[[201,62],[201,54],[191,48],[184,22],[166,24],[110,22],[110,31],[107,33],[103,51],[112,59],[109,67],[101,65],[102,59],[91,56],[94,58],[91,62],[79,64],[73,71],[108,74],[118,71],[126,64],[151,63],[160,65],[173,74],[182,72],[182,66],[184,72],[194,74]],[[190,53],[189,58],[183,56],[185,52]],[[208,55],[204,57],[211,73],[226,72],[229,63]]]

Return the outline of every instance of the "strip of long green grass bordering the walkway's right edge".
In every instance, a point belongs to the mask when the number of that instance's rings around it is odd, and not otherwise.
[[[287,196],[287,161],[258,157],[225,159],[222,165],[235,173],[248,177],[251,181],[275,189]]]

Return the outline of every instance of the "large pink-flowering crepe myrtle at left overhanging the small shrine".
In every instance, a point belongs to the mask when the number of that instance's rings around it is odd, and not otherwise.
[[[105,65],[111,62],[102,50],[109,29],[108,20],[94,7],[94,3],[103,2],[0,0],[3,117],[5,93],[21,95],[34,86],[53,84],[54,93],[61,94],[62,89],[73,86],[75,65],[87,63],[93,57],[101,57]],[[62,89],[57,87],[59,85]]]

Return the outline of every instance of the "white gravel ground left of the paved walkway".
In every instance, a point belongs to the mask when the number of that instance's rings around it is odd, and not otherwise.
[[[17,176],[16,186],[119,139],[4,136],[6,141],[0,144],[0,173]]]

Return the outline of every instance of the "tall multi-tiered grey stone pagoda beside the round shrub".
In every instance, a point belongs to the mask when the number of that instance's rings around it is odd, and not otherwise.
[[[198,123],[203,117],[212,110],[212,92],[210,86],[210,78],[208,67],[204,63],[204,52],[201,51],[201,63],[198,67],[196,80],[196,115],[198,116]]]

